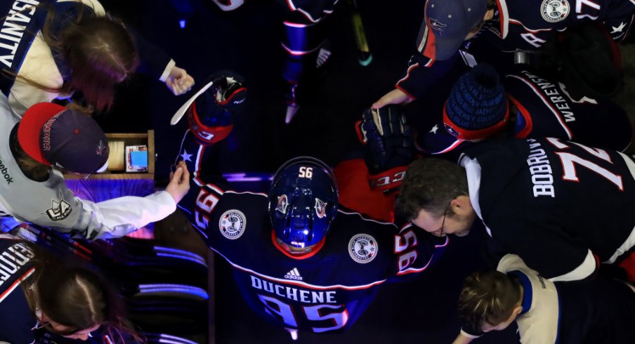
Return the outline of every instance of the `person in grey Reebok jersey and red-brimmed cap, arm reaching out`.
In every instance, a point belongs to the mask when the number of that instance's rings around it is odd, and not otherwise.
[[[0,95],[0,216],[55,227],[87,239],[122,237],[176,210],[189,173],[178,168],[165,191],[93,203],[74,197],[60,168],[78,174],[107,167],[108,141],[97,122],[50,102],[21,121]]]

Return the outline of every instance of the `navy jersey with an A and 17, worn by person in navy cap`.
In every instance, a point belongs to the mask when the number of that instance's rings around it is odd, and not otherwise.
[[[503,51],[535,51],[558,32],[596,20],[620,42],[631,30],[634,13],[634,0],[497,0],[498,22],[485,25],[487,31],[481,34],[497,37],[497,46]],[[443,36],[433,39],[433,33],[425,18],[417,39],[417,53],[396,84],[412,98],[418,98],[435,84],[456,60],[457,55],[450,60],[437,60],[435,39]]]

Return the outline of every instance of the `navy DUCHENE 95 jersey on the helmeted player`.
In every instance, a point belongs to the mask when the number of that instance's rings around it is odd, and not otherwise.
[[[180,206],[209,247],[233,266],[251,309],[273,324],[315,333],[347,329],[378,286],[426,270],[447,245],[447,238],[416,227],[398,230],[339,210],[317,249],[291,255],[275,240],[267,195],[206,183],[200,173],[205,148],[187,141],[181,152],[191,160],[196,185]]]

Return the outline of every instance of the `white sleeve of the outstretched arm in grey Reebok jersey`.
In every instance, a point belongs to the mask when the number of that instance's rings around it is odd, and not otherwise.
[[[81,204],[79,220],[72,227],[87,239],[123,237],[174,213],[176,202],[166,192],[159,191],[146,197],[118,197],[95,203],[75,198]]]

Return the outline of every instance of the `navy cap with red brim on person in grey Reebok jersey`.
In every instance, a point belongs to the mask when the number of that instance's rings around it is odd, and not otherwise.
[[[18,142],[30,157],[76,173],[103,172],[108,140],[87,114],[51,102],[29,107],[18,126]]]

